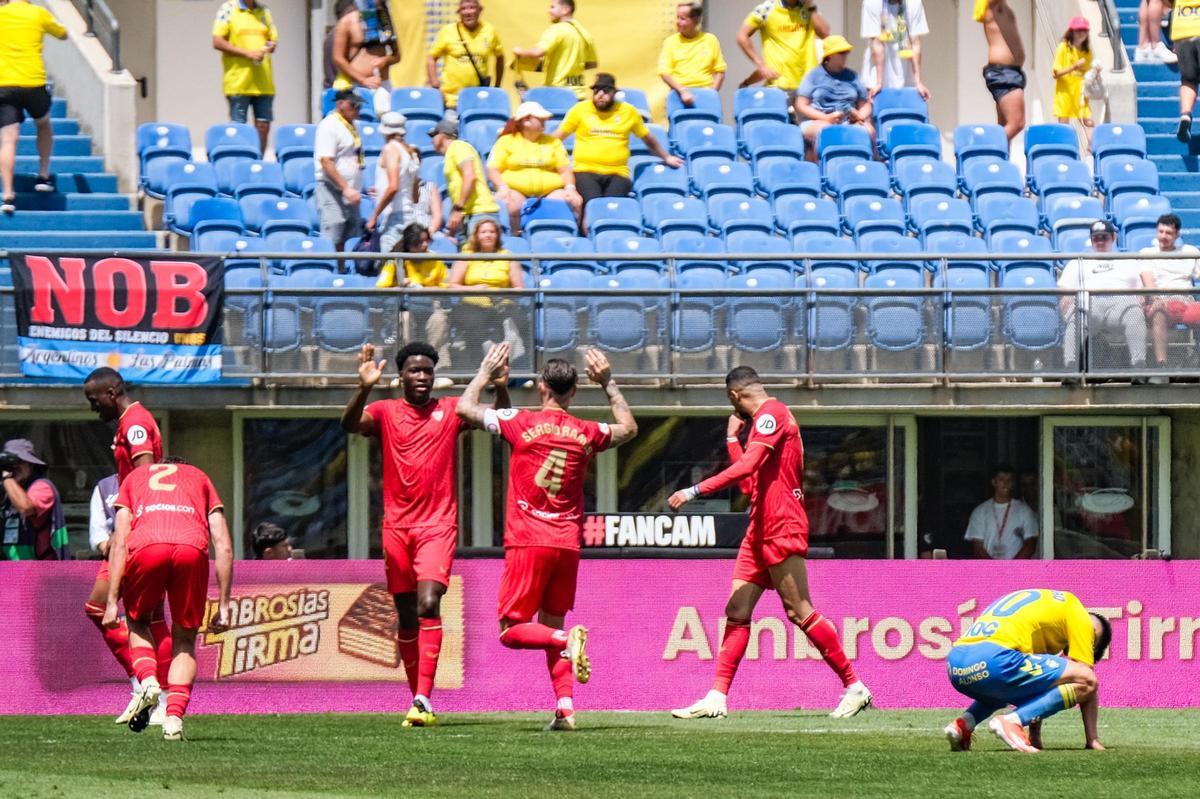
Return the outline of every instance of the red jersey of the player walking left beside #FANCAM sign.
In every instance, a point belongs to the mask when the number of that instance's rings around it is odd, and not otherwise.
[[[804,445],[800,427],[792,411],[779,400],[768,400],[750,420],[746,455],[764,446],[770,450],[767,459],[754,473],[750,489],[750,518],[764,537],[774,534],[794,534],[799,527],[809,529],[804,511]],[[701,493],[720,491],[743,479],[738,464],[700,483]]]

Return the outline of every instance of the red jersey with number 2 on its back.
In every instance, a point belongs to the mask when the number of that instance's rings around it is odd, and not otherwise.
[[[130,552],[150,543],[209,551],[209,513],[223,507],[209,476],[186,463],[138,467],[121,482],[115,507],[133,513]]]

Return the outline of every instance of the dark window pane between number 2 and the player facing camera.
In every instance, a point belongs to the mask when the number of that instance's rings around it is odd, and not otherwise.
[[[347,437],[337,419],[242,420],[242,536],[259,522],[288,531],[306,558],[346,558]]]

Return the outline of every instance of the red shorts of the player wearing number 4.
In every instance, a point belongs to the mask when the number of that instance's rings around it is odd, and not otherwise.
[[[580,551],[559,547],[509,547],[500,575],[500,619],[533,621],[540,611],[566,615],[575,607]]]

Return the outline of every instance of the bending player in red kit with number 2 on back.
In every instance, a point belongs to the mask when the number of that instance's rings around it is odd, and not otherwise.
[[[162,685],[155,674],[150,619],[170,601],[172,661],[167,679],[164,740],[184,737],[184,711],[196,681],[196,633],[204,623],[209,590],[209,541],[216,557],[218,613],[214,630],[229,624],[233,543],[223,505],[208,475],[175,458],[137,467],[116,494],[116,531],[109,547],[112,579],[106,626],[116,624],[118,599],[125,600],[130,655],[140,680],[130,729],[142,732]]]

